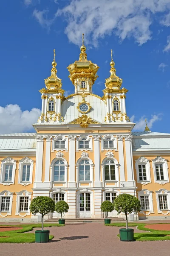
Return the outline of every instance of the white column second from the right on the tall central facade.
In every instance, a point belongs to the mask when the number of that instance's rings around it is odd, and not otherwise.
[[[120,172],[120,185],[125,182],[125,165],[124,165],[124,152],[123,152],[123,135],[117,135],[118,151],[119,151],[119,172]]]

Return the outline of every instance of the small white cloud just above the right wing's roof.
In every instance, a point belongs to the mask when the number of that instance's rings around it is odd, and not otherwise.
[[[151,129],[153,127],[154,122],[161,120],[162,114],[159,113],[157,115],[151,115],[150,119],[147,119],[147,126]],[[146,123],[145,123],[145,116],[142,116],[139,120],[135,121],[135,115],[130,117],[131,122],[136,122],[134,127],[134,131],[144,131]]]

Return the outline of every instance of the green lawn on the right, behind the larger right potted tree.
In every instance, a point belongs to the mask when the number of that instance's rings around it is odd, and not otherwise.
[[[170,240],[170,231],[153,230],[153,229],[144,227],[147,224],[151,225],[150,223],[134,223],[134,222],[129,223],[129,227],[137,227],[138,230],[149,231],[145,233],[134,233],[135,241]],[[166,224],[166,223],[154,223],[154,224]],[[111,223],[111,224],[105,224],[105,226],[126,227],[126,223]]]

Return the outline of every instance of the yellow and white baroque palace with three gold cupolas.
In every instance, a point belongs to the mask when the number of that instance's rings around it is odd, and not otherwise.
[[[122,193],[141,201],[134,220],[170,219],[170,134],[151,132],[147,125],[133,132],[128,90],[112,56],[100,97],[92,93],[99,67],[88,61],[84,42],[80,51],[68,66],[74,94],[64,96],[54,51],[35,132],[0,135],[0,221],[37,221],[29,205],[40,195],[68,202],[65,218],[104,218],[102,201],[113,202]],[[116,211],[109,216],[124,217]]]

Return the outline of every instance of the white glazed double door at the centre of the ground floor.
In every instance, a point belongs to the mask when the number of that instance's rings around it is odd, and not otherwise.
[[[79,218],[91,218],[91,194],[79,194]]]

